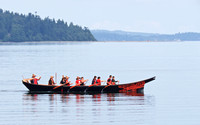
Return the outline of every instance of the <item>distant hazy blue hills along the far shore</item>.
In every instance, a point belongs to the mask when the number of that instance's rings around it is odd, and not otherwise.
[[[125,31],[91,30],[98,41],[200,41],[200,33],[155,34]]]

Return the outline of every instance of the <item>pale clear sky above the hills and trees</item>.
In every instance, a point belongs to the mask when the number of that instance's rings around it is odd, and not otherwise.
[[[89,29],[200,32],[200,0],[0,0],[0,8]]]

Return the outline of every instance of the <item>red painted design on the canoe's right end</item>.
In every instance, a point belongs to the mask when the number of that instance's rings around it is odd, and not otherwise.
[[[120,92],[127,92],[127,91],[135,91],[139,88],[144,88],[145,81],[137,82],[135,84],[126,84],[126,85],[119,85],[119,88],[122,88]]]

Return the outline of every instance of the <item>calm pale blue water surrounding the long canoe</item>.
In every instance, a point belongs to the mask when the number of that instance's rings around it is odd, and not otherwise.
[[[0,124],[200,124],[200,42],[0,43]],[[32,73],[120,83],[156,76],[144,95],[29,94]]]

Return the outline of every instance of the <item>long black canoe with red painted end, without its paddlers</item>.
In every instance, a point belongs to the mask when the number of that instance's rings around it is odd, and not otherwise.
[[[28,88],[30,92],[43,92],[43,93],[120,93],[134,91],[137,93],[143,93],[144,85],[148,82],[155,80],[155,77],[118,85],[100,85],[100,86],[67,86],[63,85],[43,85],[43,84],[31,84],[29,79],[23,79],[22,83]]]

